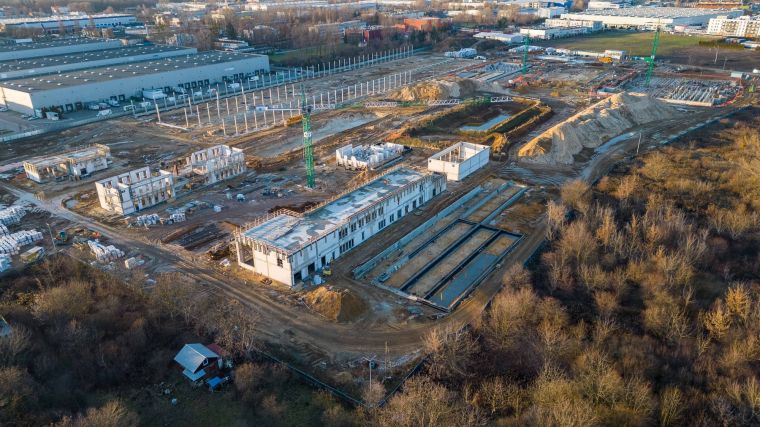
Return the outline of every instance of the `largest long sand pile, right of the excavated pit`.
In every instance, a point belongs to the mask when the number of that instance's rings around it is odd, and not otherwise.
[[[619,93],[548,129],[525,144],[518,155],[535,163],[572,164],[583,148],[597,148],[635,126],[677,114],[648,95]]]

